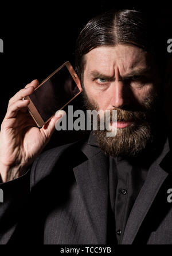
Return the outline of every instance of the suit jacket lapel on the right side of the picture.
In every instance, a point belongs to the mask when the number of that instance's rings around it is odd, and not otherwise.
[[[141,224],[143,223],[144,218],[146,217],[148,210],[153,204],[159,189],[168,176],[168,172],[165,170],[165,168],[161,167],[161,162],[167,155],[167,152],[169,152],[168,138],[161,155],[151,165],[147,174],[146,181],[144,182],[138,198],[136,199],[135,204],[131,210],[124,231],[122,244],[132,244],[134,242],[134,239],[139,231]]]

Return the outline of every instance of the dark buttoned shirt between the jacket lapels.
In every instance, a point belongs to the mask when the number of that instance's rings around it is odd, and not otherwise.
[[[112,216],[114,216],[114,235],[116,243],[120,243],[124,228],[130,215],[135,199],[143,186],[147,175],[147,168],[137,162],[121,157],[109,157],[109,191]],[[113,232],[111,232],[111,236]]]

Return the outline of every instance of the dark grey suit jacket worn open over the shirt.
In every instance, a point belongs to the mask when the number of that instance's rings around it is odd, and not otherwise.
[[[121,244],[172,244],[170,154],[167,138],[148,170]],[[89,141],[42,153],[24,176],[0,188],[1,244],[107,243],[108,161]]]

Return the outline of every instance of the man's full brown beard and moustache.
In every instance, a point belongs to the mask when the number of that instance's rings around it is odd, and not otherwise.
[[[83,89],[84,105],[87,110],[96,110],[98,107],[95,101],[89,100],[85,89]],[[107,137],[107,130],[100,130],[100,116],[98,115],[98,129],[93,131],[96,136],[97,145],[105,153],[111,156],[137,156],[147,145],[151,145],[155,138],[155,122],[159,104],[157,92],[152,92],[142,103],[141,109],[134,110],[133,107],[114,108],[117,111],[117,121],[133,121],[125,128],[117,129],[114,137]],[[136,107],[135,107],[136,109]],[[104,116],[105,120],[105,116]],[[112,111],[111,111],[112,121]],[[105,123],[104,123],[105,127]]]

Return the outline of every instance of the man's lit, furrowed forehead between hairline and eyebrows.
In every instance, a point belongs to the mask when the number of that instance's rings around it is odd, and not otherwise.
[[[118,66],[120,72],[147,67],[147,54],[141,48],[132,45],[97,47],[85,55],[85,69],[112,74]]]

